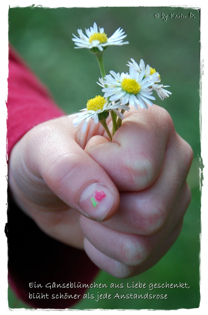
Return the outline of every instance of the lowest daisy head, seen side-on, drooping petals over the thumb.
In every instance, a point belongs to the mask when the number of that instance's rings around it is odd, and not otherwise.
[[[73,120],[74,126],[77,126],[79,123],[81,123],[83,120],[85,120],[82,131],[85,132],[87,128],[87,123],[90,120],[90,118],[94,119],[95,123],[99,122],[99,114],[106,112],[106,118],[108,117],[109,111],[114,111],[116,115],[123,119],[124,116],[121,112],[118,111],[118,109],[124,109],[126,111],[129,110],[129,107],[126,105],[123,105],[119,102],[108,102],[104,96],[96,95],[93,99],[88,100],[87,107],[80,110],[80,113],[76,114],[76,118]],[[105,118],[105,119],[106,119]]]

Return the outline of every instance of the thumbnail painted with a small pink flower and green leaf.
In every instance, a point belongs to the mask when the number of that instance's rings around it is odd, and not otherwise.
[[[110,211],[114,203],[114,195],[100,183],[88,186],[80,195],[79,206],[90,218],[101,221]]]

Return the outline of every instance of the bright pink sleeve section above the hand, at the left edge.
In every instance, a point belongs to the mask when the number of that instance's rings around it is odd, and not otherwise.
[[[28,130],[39,123],[64,115],[51,99],[45,86],[11,47],[7,108],[8,155]]]

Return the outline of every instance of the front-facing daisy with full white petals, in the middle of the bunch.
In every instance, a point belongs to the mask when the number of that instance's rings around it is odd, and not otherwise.
[[[152,75],[144,77],[145,69],[138,72],[134,66],[130,66],[129,74],[122,72],[116,73],[110,71],[110,74],[104,77],[104,84],[107,88],[102,89],[105,92],[104,97],[110,101],[120,101],[123,105],[134,105],[138,109],[152,106],[152,101],[155,97],[152,96],[152,88],[150,86],[155,82],[152,81]],[[111,76],[112,75],[112,76]],[[155,80],[159,77],[155,76]]]

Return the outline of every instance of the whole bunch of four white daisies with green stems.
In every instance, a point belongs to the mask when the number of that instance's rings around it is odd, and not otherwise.
[[[141,59],[140,64],[137,64],[134,59],[131,58],[131,62],[128,61],[129,73],[122,72],[116,73],[110,71],[110,74],[106,75],[103,63],[103,52],[109,45],[124,45],[128,42],[123,42],[123,39],[127,36],[124,34],[123,29],[119,28],[111,37],[107,37],[103,28],[99,28],[96,23],[90,29],[86,29],[86,35],[83,34],[81,29],[78,29],[79,37],[73,36],[72,38],[75,48],[88,48],[96,55],[98,64],[100,67],[101,78],[97,82],[102,87],[104,95],[98,95],[88,100],[86,108],[81,109],[79,113],[75,114],[77,117],[74,119],[74,125],[83,123],[82,130],[86,131],[87,123],[92,118],[95,123],[101,123],[107,132],[110,141],[112,141],[112,135],[121,126],[122,119],[124,118],[124,112],[128,111],[129,105],[138,109],[148,108],[152,106],[152,100],[155,97],[152,96],[152,91],[155,90],[157,95],[164,100],[172,93],[164,89],[169,85],[160,84],[160,75],[155,69],[149,65],[145,66],[144,61]],[[108,129],[106,119],[111,115],[113,123],[112,135]]]

